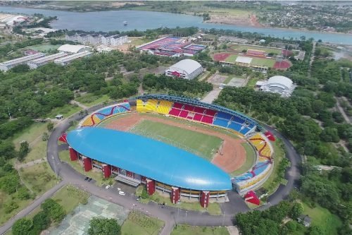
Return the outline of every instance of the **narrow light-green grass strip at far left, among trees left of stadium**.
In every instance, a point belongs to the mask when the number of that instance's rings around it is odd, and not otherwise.
[[[41,136],[44,132],[47,132],[46,123],[33,123],[30,127],[25,128],[25,130],[20,133],[15,133],[13,135],[13,144],[16,147],[16,150],[20,149],[20,143],[25,140],[28,143],[31,143],[33,140]]]

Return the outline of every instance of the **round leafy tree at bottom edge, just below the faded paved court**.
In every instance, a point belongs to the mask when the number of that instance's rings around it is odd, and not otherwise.
[[[116,219],[94,217],[90,221],[89,235],[119,235],[121,227]]]

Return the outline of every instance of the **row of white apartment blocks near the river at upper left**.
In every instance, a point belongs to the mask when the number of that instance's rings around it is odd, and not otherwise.
[[[75,34],[75,35],[66,35],[65,40],[80,42],[82,44],[90,45],[105,45],[105,46],[120,46],[128,42],[127,36],[121,35],[100,35],[100,34]]]

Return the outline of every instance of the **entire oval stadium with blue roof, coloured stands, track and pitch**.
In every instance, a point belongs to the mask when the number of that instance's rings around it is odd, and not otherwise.
[[[199,200],[202,207],[227,201],[228,191],[244,195],[260,187],[274,164],[275,138],[255,120],[172,95],[142,95],[103,107],[61,139],[84,171],[145,185],[149,195],[168,193],[172,203]],[[248,158],[244,144],[253,148],[253,162],[236,174]]]

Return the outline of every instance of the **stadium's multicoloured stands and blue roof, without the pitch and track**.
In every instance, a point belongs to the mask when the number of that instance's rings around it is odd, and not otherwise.
[[[231,176],[222,167],[180,147],[99,125],[118,115],[139,113],[160,114],[164,119],[184,119],[229,131],[256,150],[256,159],[244,174]],[[275,138],[255,120],[215,104],[171,95],[143,95],[103,107],[82,119],[79,128],[62,139],[70,146],[70,159],[80,160],[84,171],[96,168],[104,178],[113,176],[131,186],[144,184],[149,195],[156,191],[170,193],[172,203],[193,198],[202,207],[212,200],[227,200],[228,191],[243,195],[258,188],[268,179],[274,164],[270,141]]]

